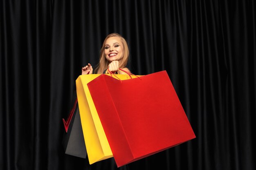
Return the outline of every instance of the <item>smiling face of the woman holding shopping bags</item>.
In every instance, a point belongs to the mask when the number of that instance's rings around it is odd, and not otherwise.
[[[105,57],[108,62],[120,61],[124,57],[124,45],[119,37],[110,37],[105,44]]]

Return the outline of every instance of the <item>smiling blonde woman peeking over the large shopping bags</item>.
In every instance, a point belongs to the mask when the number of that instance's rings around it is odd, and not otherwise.
[[[126,40],[118,33],[109,34],[102,44],[99,64],[94,72],[104,74],[108,69],[112,73],[125,74],[119,71],[119,68],[122,68],[130,73],[129,69],[126,68],[128,57],[129,49]],[[93,68],[90,63],[82,68],[82,75],[92,73]]]

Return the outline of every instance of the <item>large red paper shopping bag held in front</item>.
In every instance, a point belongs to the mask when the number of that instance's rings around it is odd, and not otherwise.
[[[195,138],[166,71],[88,88],[118,167]]]

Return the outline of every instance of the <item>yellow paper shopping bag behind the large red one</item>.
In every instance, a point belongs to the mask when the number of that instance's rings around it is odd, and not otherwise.
[[[100,74],[80,75],[76,79],[76,91],[83,136],[90,164],[113,157],[111,148],[108,144],[108,140],[87,86],[90,81],[98,76],[100,76]],[[120,79],[130,78],[128,75],[116,76]]]

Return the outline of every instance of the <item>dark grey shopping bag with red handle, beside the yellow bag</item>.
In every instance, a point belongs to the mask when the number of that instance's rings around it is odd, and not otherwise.
[[[66,121],[65,119],[62,119],[65,128],[62,144],[65,154],[86,158],[87,152],[85,148],[85,141],[83,139],[83,130],[81,126],[76,92],[74,94],[72,103],[74,103],[74,105],[70,111],[68,119]]]

